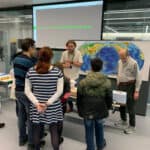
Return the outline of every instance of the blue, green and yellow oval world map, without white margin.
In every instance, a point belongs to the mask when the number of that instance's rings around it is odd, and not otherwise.
[[[132,42],[83,42],[79,45],[83,56],[83,65],[81,70],[86,72],[91,69],[90,61],[92,58],[98,57],[103,61],[103,72],[106,75],[117,74],[117,66],[119,60],[119,50],[127,49],[129,55],[136,60],[139,69],[144,65],[144,54],[142,50]]]

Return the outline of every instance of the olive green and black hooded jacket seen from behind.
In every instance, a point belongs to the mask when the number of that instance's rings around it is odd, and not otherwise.
[[[99,72],[90,72],[77,88],[79,116],[85,119],[103,119],[112,105],[110,81]]]

